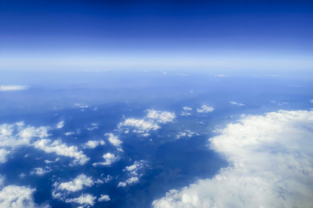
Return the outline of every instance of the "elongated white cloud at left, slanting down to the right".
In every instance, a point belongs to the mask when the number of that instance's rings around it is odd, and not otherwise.
[[[62,144],[59,140],[51,142],[49,139],[41,139],[34,142],[33,146],[46,153],[55,153],[56,155],[75,158],[72,165],[84,165],[89,160],[89,158],[87,158],[82,151],[78,151],[77,147],[68,147],[65,144]]]

